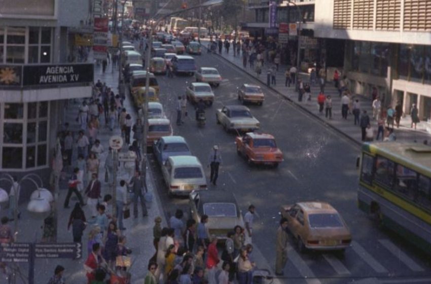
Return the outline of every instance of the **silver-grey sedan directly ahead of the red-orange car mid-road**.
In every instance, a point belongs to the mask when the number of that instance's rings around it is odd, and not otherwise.
[[[250,110],[243,105],[226,105],[215,112],[217,124],[222,124],[226,131],[241,132],[259,129],[260,123],[252,116]]]

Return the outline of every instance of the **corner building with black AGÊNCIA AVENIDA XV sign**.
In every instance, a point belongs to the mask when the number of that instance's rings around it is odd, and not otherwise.
[[[0,6],[0,172],[46,179],[65,102],[89,97],[93,64],[67,63],[90,0],[15,0]]]

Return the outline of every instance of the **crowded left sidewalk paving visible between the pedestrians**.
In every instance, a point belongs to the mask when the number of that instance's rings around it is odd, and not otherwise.
[[[115,93],[117,93],[117,85],[118,85],[118,69],[112,73],[112,66],[109,65],[106,68],[106,73],[102,74],[101,66],[95,66],[95,81],[100,79],[101,82],[106,82],[106,85],[112,87]],[[75,103],[73,100],[69,101],[68,109],[65,110],[64,118],[65,122],[69,122],[71,130],[74,132],[74,137],[77,137],[79,131],[79,125],[75,122],[75,118],[78,114],[78,107],[81,101],[77,100]],[[132,116],[133,121],[136,119],[136,114],[133,108],[133,105],[126,98],[124,102],[124,107],[127,109],[128,113]],[[60,123],[60,122],[59,122]],[[101,164],[99,170],[99,181],[101,182],[101,196],[103,197],[107,193],[111,193],[109,185],[104,182],[104,160],[107,155],[107,150],[109,148],[108,140],[111,135],[119,135],[120,129],[118,126],[111,132],[108,128],[105,128],[104,118],[100,120],[100,129],[97,138],[100,139],[102,146],[104,147],[105,152],[101,155]],[[77,149],[74,149],[74,157],[73,161],[77,159]],[[74,164],[74,162],[73,162]],[[64,169],[63,169],[64,170]],[[65,196],[67,194],[67,179],[69,177],[69,173],[71,172],[71,168],[67,168],[67,174],[65,174],[65,179],[60,181],[60,192],[58,196],[58,201],[56,203],[57,212],[58,212],[58,232],[57,232],[57,242],[72,242],[73,236],[71,229],[67,230],[67,222],[70,215],[71,210],[75,205],[75,202],[78,199],[75,195],[72,195],[69,206],[70,208],[63,208],[63,202]],[[120,169],[118,174],[118,182],[121,178],[127,175],[124,174],[124,171]],[[147,273],[147,264],[149,259],[153,256],[155,250],[153,247],[153,225],[154,219],[156,216],[160,216],[163,219],[162,227],[166,226],[166,221],[164,220],[164,214],[161,210],[160,200],[157,196],[157,190],[154,185],[154,179],[151,172],[151,167],[148,167],[147,171],[147,182],[148,182],[148,190],[153,193],[154,200],[152,203],[147,203],[148,209],[148,217],[142,217],[141,214],[138,214],[138,218],[134,219],[132,214],[133,204],[131,204],[131,217],[127,220],[124,220],[124,226],[127,228],[123,231],[123,234],[127,237],[126,246],[128,246],[132,250],[132,254],[130,255],[132,258],[132,268],[130,270],[132,274],[132,283],[143,283],[143,279]],[[46,185],[47,187],[47,185]],[[85,198],[84,198],[85,200]],[[43,224],[42,219],[34,219],[34,217],[30,216],[30,213],[26,210],[26,205],[28,202],[23,202],[20,205],[20,210],[22,212],[21,219],[18,222],[18,241],[19,242],[39,242],[42,238],[42,229],[41,226]],[[138,208],[140,205],[138,204]],[[85,215],[87,220],[91,219],[90,208],[88,205],[83,207],[85,211]],[[140,208],[139,208],[140,210]],[[3,210],[3,215],[6,214],[6,210]],[[87,258],[87,241],[88,241],[88,233],[90,232],[92,225],[87,225],[86,230],[84,231],[82,248],[83,254],[82,258],[79,260],[68,260],[68,259],[37,259],[35,261],[35,270],[34,270],[34,279],[35,283],[46,283],[49,278],[53,275],[54,268],[56,265],[60,264],[65,267],[64,276],[66,278],[67,283],[85,283],[86,276],[83,268],[83,264]],[[27,276],[27,266],[21,265],[21,272]],[[17,283],[21,284],[18,280]]]

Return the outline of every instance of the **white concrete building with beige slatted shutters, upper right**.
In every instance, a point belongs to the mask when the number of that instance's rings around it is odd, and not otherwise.
[[[431,116],[431,1],[325,0],[315,3],[314,36],[345,40],[343,73],[350,90],[385,105],[413,103]],[[340,56],[342,56],[340,52]]]

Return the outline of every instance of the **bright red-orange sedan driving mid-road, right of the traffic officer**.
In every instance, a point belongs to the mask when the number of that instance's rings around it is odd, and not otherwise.
[[[271,164],[278,166],[283,161],[283,153],[277,148],[274,136],[248,132],[235,138],[236,152],[247,159],[249,165]]]

